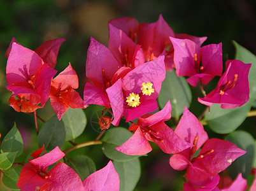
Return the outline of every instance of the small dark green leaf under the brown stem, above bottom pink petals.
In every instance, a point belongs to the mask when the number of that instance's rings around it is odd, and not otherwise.
[[[84,155],[68,158],[66,164],[76,171],[82,181],[96,171],[94,161]]]

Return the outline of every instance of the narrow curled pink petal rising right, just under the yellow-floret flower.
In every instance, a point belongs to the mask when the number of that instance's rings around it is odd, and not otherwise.
[[[146,115],[143,115],[142,117],[138,118],[137,124],[141,127],[146,127],[150,125],[157,124],[158,122],[164,122],[171,118],[171,103],[168,101],[166,103],[166,106],[157,113],[154,113],[150,115],[149,117],[146,117]]]

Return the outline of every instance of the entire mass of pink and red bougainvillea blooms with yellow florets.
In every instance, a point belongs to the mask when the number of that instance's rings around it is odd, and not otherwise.
[[[184,190],[245,190],[246,180],[241,173],[234,181],[220,173],[246,151],[224,139],[209,139],[201,118],[186,106],[177,125],[169,127],[165,122],[171,119],[171,103],[167,101],[159,108],[157,97],[162,81],[171,72],[187,76],[192,87],[201,88],[203,97],[198,97],[198,101],[206,109],[213,104],[226,110],[241,107],[250,99],[248,74],[252,64],[226,60],[224,66],[222,43],[202,46],[206,37],[175,34],[162,15],[150,24],[139,24],[131,17],[115,18],[108,27],[108,47],[90,39],[83,99],[75,90],[78,76],[71,63],[55,76],[54,67],[64,39],[52,39],[30,50],[13,38],[6,52],[10,106],[18,112],[34,112],[36,116],[36,110],[43,108],[50,98],[59,121],[69,108],[89,110],[91,104],[103,106],[98,117],[101,132],[90,145],[101,144],[104,132],[116,128],[122,120],[129,124],[133,134],[113,147],[115,152],[146,155],[152,151],[150,142],[154,142],[162,152],[171,154],[169,165],[184,173]],[[216,76],[220,77],[217,87],[206,94],[203,85]],[[118,175],[120,172],[117,173],[111,160],[82,180],[65,160],[58,162],[65,156],[59,146],[62,145],[55,145],[42,155],[43,145],[31,154],[32,159],[20,172],[20,190],[119,190],[122,175]],[[48,171],[52,164],[55,165]]]

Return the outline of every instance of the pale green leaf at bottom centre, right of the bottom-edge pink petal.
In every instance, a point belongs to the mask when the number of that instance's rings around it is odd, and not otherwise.
[[[113,162],[120,179],[120,191],[134,190],[141,177],[141,165],[139,159],[126,162]]]

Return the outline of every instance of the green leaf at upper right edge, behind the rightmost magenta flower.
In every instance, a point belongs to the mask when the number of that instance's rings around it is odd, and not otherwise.
[[[256,56],[252,52],[244,48],[243,46],[233,41],[233,44],[236,48],[235,59],[241,60],[245,64],[252,63],[249,72],[249,86],[250,86],[250,99],[256,98]]]

